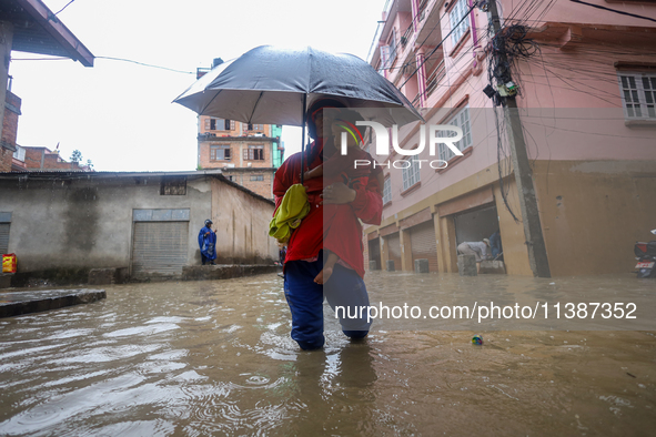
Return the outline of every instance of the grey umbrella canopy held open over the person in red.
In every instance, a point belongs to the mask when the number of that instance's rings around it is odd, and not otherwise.
[[[408,100],[353,54],[262,45],[200,78],[175,103],[199,115],[248,123],[303,125],[306,101],[335,96],[367,120],[423,120]],[[401,109],[401,110],[400,110]]]

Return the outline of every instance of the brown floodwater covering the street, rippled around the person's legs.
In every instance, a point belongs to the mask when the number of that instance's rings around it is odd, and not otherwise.
[[[633,276],[367,274],[372,304],[460,293],[451,305],[484,282],[504,305],[656,292]],[[282,284],[270,274],[117,285],[101,302],[0,319],[0,435],[626,436],[656,426],[652,331],[376,321],[351,343],[329,315],[325,348],[304,353]]]

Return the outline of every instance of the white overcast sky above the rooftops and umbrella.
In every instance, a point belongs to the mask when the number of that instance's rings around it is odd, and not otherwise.
[[[53,12],[70,0],[44,0]],[[95,59],[12,52],[12,91],[22,99],[18,143],[82,152],[98,171],[196,167],[196,115],[171,103],[199,67],[262,44],[311,45],[366,59],[385,0],[75,0],[58,17]],[[284,128],[287,156],[301,132]]]

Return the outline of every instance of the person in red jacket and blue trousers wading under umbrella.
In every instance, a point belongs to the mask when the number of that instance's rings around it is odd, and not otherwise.
[[[329,138],[331,130],[323,126],[323,109],[345,108],[333,99],[322,99],[312,104],[307,111],[307,129],[314,141],[305,151],[305,169],[301,169],[301,153],[290,156],[275,172],[273,194],[276,209],[290,186],[301,183],[301,173],[322,165],[325,159],[339,153],[334,141]],[[325,144],[325,148],[324,148]],[[372,160],[373,161],[373,160]],[[382,186],[376,177],[365,177],[363,183],[333,183],[323,186],[323,177],[305,181],[310,213],[295,228],[287,243],[284,265],[285,298],[292,312],[292,338],[303,349],[320,348],[324,344],[323,336],[323,298],[331,307],[343,306],[346,314],[363,317],[346,318],[340,312],[342,331],[352,339],[364,338],[369,334],[371,323],[366,319],[369,295],[364,281],[364,258],[362,247],[362,222],[373,225],[381,223],[383,211]],[[355,182],[355,181],[354,181]],[[330,278],[322,285],[315,282],[324,266],[323,240],[325,234],[323,203],[349,204],[352,211],[352,224],[343,226],[344,241],[352,242],[350,250],[340,254]],[[327,225],[327,224],[326,224]],[[342,228],[342,226],[340,226]]]

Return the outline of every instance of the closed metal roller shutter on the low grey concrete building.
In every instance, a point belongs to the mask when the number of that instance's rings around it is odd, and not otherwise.
[[[189,222],[134,222],[132,275],[180,275],[188,242]]]

